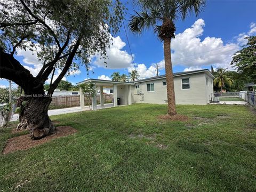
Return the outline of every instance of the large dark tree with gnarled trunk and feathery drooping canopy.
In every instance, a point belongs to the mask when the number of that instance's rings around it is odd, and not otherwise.
[[[47,115],[53,91],[70,70],[81,65],[89,69],[95,53],[106,57],[110,33],[118,31],[122,15],[118,0],[0,0],[0,77],[25,92],[19,99],[18,129],[29,129],[33,139],[54,132]],[[36,76],[14,58],[17,49],[37,54],[42,69]],[[53,77],[55,69],[60,73]],[[51,83],[45,95],[48,78]]]

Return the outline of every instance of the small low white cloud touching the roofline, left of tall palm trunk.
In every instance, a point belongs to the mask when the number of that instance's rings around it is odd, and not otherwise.
[[[156,67],[150,66],[149,68],[147,68],[147,66],[143,63],[136,65],[135,68],[129,67],[127,69],[130,73],[132,70],[136,69],[140,75],[140,79],[156,76]]]

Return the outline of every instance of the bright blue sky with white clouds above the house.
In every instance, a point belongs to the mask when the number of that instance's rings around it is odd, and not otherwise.
[[[144,31],[141,36],[132,34],[127,29],[130,15],[133,14],[132,1],[127,2],[125,27],[131,45],[135,68],[141,78],[156,75],[156,63],[159,73],[164,74],[163,44],[152,29]],[[204,11],[196,18],[194,15],[185,21],[175,22],[176,37],[172,41],[173,71],[195,70],[201,68],[228,67],[233,55],[239,47],[246,43],[245,36],[256,35],[256,1],[207,1]],[[137,9],[135,7],[135,9]],[[15,56],[34,75],[41,67],[36,61],[36,55],[31,52],[19,51]],[[128,74],[134,69],[132,57],[125,36],[124,27],[114,36],[114,45],[108,51],[107,68],[102,67],[102,61],[92,61],[93,72],[87,76],[82,66],[74,75],[64,79],[75,84],[85,78],[109,79],[114,71]],[[58,73],[58,71],[57,71]],[[0,81],[0,86],[7,82]]]

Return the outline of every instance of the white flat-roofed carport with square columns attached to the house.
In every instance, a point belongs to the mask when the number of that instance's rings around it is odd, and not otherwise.
[[[78,82],[77,85],[82,83],[92,82],[95,84],[95,89],[100,90],[100,105],[104,107],[103,88],[113,88],[113,107],[117,107],[117,98],[120,98],[121,105],[132,104],[131,86],[133,83],[130,82],[115,82],[101,79],[86,79],[85,81]],[[84,94],[80,88],[80,106],[84,108]],[[92,110],[97,110],[97,97],[92,98]]]

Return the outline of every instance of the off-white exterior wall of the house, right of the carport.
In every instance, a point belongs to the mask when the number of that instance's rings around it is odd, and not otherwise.
[[[205,82],[206,77],[209,78],[208,86],[206,86]],[[182,78],[190,79],[190,89],[182,90]],[[210,101],[211,93],[213,93],[213,83],[211,80],[212,77],[208,76],[204,72],[175,76],[175,103],[181,105],[206,105]],[[140,88],[132,91],[133,103],[166,103],[167,91],[166,86],[163,86],[164,81],[165,77],[162,79],[152,79],[146,82],[135,83],[134,85],[140,85]],[[147,91],[147,84],[149,83],[154,83],[155,91]],[[140,91],[139,94],[137,93],[137,90]]]

